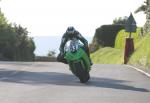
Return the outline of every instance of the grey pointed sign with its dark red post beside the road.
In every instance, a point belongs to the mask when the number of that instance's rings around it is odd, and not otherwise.
[[[131,34],[133,32],[136,32],[136,21],[132,13],[130,14],[125,23],[125,31],[129,33],[129,37],[127,37],[125,40],[124,64],[128,62],[129,56],[134,52],[134,42]]]

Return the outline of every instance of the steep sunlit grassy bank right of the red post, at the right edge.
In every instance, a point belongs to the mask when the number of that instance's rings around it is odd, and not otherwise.
[[[145,35],[137,44],[134,54],[129,60],[129,64],[140,66],[148,71],[150,69],[150,35]]]

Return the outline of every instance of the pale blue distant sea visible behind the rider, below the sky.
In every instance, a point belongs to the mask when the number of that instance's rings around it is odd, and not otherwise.
[[[89,43],[92,42],[93,37],[85,37]],[[36,49],[35,55],[46,56],[49,51],[54,50],[56,55],[59,53],[59,46],[61,37],[59,36],[35,36],[33,37]]]

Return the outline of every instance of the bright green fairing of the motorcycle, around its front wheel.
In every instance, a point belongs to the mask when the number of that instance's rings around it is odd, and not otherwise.
[[[72,52],[67,52],[65,55],[65,59],[68,61],[69,65],[72,67],[72,62],[77,62],[77,61],[81,61],[81,59],[83,59],[83,61],[85,61],[85,69],[88,69],[88,71],[90,71],[90,61],[89,58],[87,56],[87,54],[85,53],[85,51],[80,48],[77,52],[72,53]]]

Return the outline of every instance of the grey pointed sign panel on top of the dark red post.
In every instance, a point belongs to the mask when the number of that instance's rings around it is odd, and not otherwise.
[[[136,32],[136,21],[132,15],[132,13],[130,14],[127,22],[125,23],[125,31],[126,32]]]

